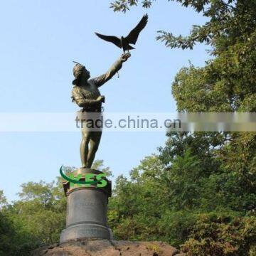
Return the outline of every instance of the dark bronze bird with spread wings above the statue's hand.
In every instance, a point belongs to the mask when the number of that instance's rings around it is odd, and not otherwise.
[[[137,39],[139,37],[139,33],[142,31],[142,29],[146,26],[146,23],[148,21],[148,15],[145,14],[141,21],[137,24],[137,26],[129,33],[128,36],[121,38],[118,38],[117,36],[105,36],[100,33],[95,33],[99,38],[102,38],[105,41],[114,43],[117,47],[122,48],[125,52],[125,50],[132,50],[135,49],[134,47],[130,46],[129,43],[135,44],[137,42]]]

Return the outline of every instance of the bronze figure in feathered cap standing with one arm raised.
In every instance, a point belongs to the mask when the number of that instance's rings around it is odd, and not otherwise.
[[[75,80],[73,80],[72,98],[73,102],[82,107],[82,112],[101,112],[105,96],[100,95],[98,87],[110,80],[122,68],[122,63],[130,56],[130,53],[122,54],[107,73],[92,79],[90,79],[90,72],[84,65],[79,63],[75,65],[73,68]],[[101,135],[101,130],[100,132],[93,132],[82,128],[82,142],[80,144],[82,168],[91,168],[92,162],[95,159],[95,153],[100,144]]]

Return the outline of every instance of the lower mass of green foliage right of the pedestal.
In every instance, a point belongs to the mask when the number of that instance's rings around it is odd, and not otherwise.
[[[245,202],[238,189],[230,192],[229,181],[216,172],[204,174],[202,167],[188,149],[171,166],[152,155],[131,171],[130,180],[119,176],[109,211],[115,238],[163,240],[183,245],[189,255],[247,255],[254,250],[253,212],[237,206]],[[244,193],[242,188],[240,194],[248,199],[255,192]]]

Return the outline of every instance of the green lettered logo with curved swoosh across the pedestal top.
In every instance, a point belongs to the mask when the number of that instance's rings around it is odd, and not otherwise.
[[[70,174],[69,176],[66,176],[62,171],[63,166],[60,167],[60,175],[66,180],[70,181],[70,187],[75,186],[77,184],[78,186],[85,186],[90,187],[93,184],[97,184],[97,188],[103,188],[107,186],[107,181],[104,179],[106,178],[106,174],[85,174],[85,181],[80,181],[80,178],[82,178],[82,174],[78,174],[78,176],[74,176],[74,174]],[[96,178],[96,180],[95,180]]]

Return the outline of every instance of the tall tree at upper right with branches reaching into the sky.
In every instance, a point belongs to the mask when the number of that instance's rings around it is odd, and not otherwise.
[[[170,48],[212,47],[211,60],[203,68],[182,68],[172,85],[180,112],[255,112],[256,110],[256,2],[252,0],[176,0],[208,18],[193,26],[189,36],[160,31],[158,40]],[[149,8],[153,1],[140,1]],[[127,11],[139,1],[114,1],[114,11]],[[255,210],[255,133],[169,133],[161,158],[171,164],[190,148],[202,162],[203,173],[222,193],[223,204],[235,210]],[[225,181],[225,183],[223,183]],[[240,186],[238,186],[238,183]],[[234,193],[236,191],[236,193]],[[231,194],[243,203],[230,198]],[[242,198],[242,200],[241,200]],[[250,198],[250,199],[249,199]],[[235,203],[236,202],[236,203]],[[246,202],[246,203],[245,203]],[[232,206],[231,206],[232,205]],[[246,207],[245,207],[246,205]]]

